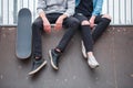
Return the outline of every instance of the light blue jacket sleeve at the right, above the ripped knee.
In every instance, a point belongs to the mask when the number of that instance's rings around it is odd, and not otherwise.
[[[93,0],[92,15],[99,15],[102,12],[103,0]]]

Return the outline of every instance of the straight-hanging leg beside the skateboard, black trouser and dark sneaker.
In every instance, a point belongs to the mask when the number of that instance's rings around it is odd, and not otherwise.
[[[41,50],[42,26],[43,25],[41,18],[38,18],[32,24],[33,56],[32,56],[32,70],[29,73],[29,75],[35,74],[47,64],[47,61],[42,59]]]

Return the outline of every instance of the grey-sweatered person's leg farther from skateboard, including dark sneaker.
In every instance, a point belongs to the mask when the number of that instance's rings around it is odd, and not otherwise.
[[[51,58],[51,65],[54,69],[58,69],[58,61],[61,55],[61,53],[64,52],[66,45],[71,41],[72,36],[74,35],[75,31],[79,26],[79,21],[75,18],[66,18],[63,22],[63,24],[68,28],[65,31],[63,37],[61,38],[59,45],[49,52],[50,58]]]

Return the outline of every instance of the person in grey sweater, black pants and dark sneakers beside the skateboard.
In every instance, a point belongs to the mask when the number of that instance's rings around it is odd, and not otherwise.
[[[41,33],[51,33],[51,23],[54,23],[54,30],[59,31],[65,26],[65,33],[55,48],[50,50],[51,65],[58,69],[58,61],[65,50],[71,37],[78,30],[80,22],[73,18],[75,0],[38,0],[39,16],[32,23],[32,69],[29,75],[33,75],[45,66],[47,61],[42,57]]]

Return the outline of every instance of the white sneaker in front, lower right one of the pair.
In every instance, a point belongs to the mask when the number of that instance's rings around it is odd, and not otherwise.
[[[96,68],[100,66],[94,56],[88,57],[88,64],[91,68]]]

